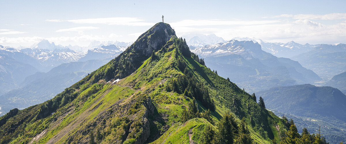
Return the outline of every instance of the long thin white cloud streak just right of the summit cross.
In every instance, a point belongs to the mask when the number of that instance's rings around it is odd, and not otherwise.
[[[182,20],[171,23],[173,27],[189,26],[220,26],[220,25],[263,25],[268,23],[280,22],[279,20],[261,20],[261,21],[244,21],[244,20]]]

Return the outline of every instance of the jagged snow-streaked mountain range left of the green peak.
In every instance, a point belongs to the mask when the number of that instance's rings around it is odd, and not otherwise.
[[[80,47],[55,45],[54,42],[42,40],[30,48],[24,49],[1,46],[1,51],[15,60],[34,66],[39,71],[47,72],[64,63],[115,58],[130,44],[131,42],[93,41],[88,47]],[[83,51],[80,51],[81,49]]]

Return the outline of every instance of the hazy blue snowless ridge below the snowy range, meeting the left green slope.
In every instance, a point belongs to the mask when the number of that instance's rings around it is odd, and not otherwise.
[[[2,107],[0,112],[6,113],[13,108],[22,109],[43,103],[110,60],[71,62],[61,64],[47,73],[38,72],[27,76],[19,89],[11,90],[0,96],[0,106]]]

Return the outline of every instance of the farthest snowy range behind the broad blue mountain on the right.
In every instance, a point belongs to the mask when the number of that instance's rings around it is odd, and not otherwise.
[[[215,35],[186,35],[186,41],[191,50],[201,48],[203,46],[224,43],[222,38]],[[217,41],[219,39],[219,41]],[[238,41],[253,41],[261,46],[261,49],[276,57],[290,58],[298,61],[303,67],[311,69],[324,82],[331,77],[346,71],[346,45],[328,45],[316,44],[301,45],[297,42],[290,41],[286,44],[282,42],[267,42],[257,38],[239,38],[235,37],[233,40]],[[323,85],[317,83],[317,85]]]

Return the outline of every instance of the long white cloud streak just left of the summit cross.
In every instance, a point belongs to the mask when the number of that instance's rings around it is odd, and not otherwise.
[[[90,23],[90,24],[107,24],[107,25],[124,25],[124,26],[152,26],[155,23],[143,22],[145,20],[130,17],[113,17],[113,18],[94,18],[94,19],[74,19],[74,20],[60,20],[52,19],[45,20],[49,22],[62,22],[68,21],[73,23]]]

